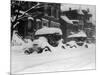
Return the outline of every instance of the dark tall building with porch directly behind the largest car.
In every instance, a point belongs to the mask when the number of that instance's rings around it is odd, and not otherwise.
[[[27,18],[25,27],[25,37],[30,38],[36,30],[47,27],[60,28],[60,4],[56,3],[40,3],[39,8],[29,11],[31,18]],[[30,6],[31,7],[31,6]]]

